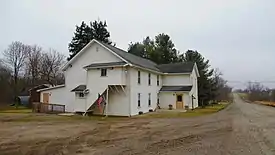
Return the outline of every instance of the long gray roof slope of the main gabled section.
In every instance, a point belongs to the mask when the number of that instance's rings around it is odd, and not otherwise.
[[[117,47],[114,47],[112,45],[102,43],[102,42],[100,42],[100,43],[133,65],[137,65],[139,67],[148,68],[148,69],[160,72],[159,68],[157,67],[157,64],[151,60],[136,56],[132,53],[128,53],[128,52],[126,52],[122,49],[119,49]]]

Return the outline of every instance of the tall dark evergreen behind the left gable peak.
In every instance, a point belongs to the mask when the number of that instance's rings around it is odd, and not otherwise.
[[[111,44],[110,33],[107,30],[106,21],[94,21],[87,25],[82,21],[80,26],[76,26],[76,31],[72,41],[69,43],[70,56],[67,60],[71,60],[83,47],[91,40],[97,39],[107,44]]]

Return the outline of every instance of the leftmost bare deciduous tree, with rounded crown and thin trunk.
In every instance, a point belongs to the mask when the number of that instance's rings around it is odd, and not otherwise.
[[[17,96],[18,76],[24,66],[28,50],[28,46],[16,41],[12,42],[8,49],[3,52],[6,63],[12,69],[15,96]]]

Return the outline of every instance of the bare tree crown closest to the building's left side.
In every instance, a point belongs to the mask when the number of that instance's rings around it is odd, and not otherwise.
[[[65,56],[53,49],[43,53],[40,68],[41,78],[51,85],[60,83],[58,78],[63,78],[60,69],[65,62],[64,60]]]

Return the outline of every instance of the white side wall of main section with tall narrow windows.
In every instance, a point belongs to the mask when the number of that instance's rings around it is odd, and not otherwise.
[[[138,84],[138,71],[141,72],[140,84]],[[137,68],[129,69],[131,115],[137,115],[139,111],[146,113],[157,107],[157,95],[162,83],[161,76],[159,77],[160,85],[157,86],[157,74],[151,73],[151,85],[148,85],[148,73],[148,71]],[[138,107],[138,93],[141,93],[140,107]],[[148,106],[149,93],[151,93],[151,106]]]

